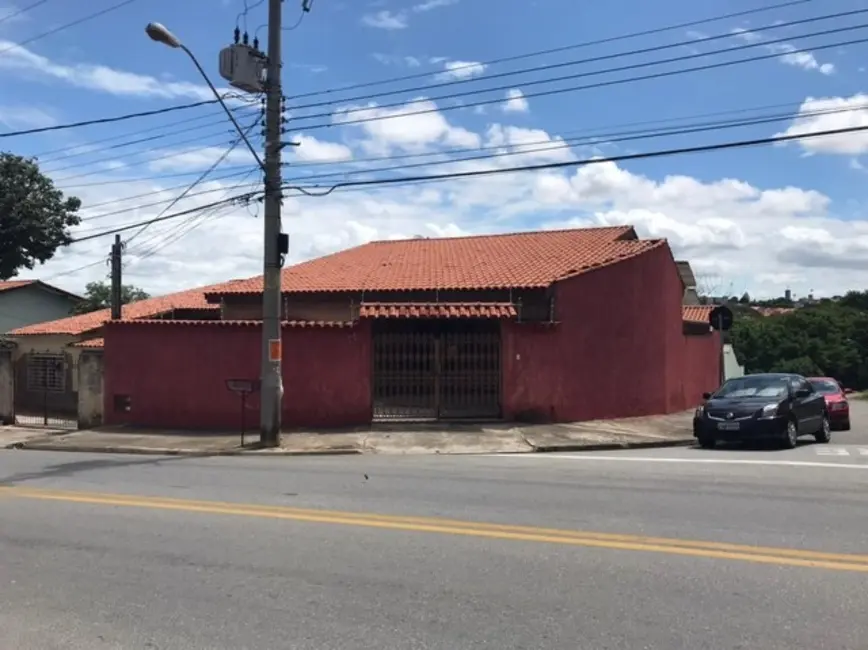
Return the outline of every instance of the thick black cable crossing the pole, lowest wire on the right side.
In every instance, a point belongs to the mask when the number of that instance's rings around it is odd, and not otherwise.
[[[336,190],[346,188],[346,187],[375,187],[375,186],[390,186],[390,185],[398,185],[398,184],[410,184],[410,183],[424,183],[424,182],[437,182],[437,181],[445,181],[445,180],[461,180],[465,178],[476,178],[482,176],[495,176],[500,174],[514,174],[517,172],[534,172],[534,171],[544,171],[544,170],[552,170],[552,169],[566,169],[570,167],[583,167],[586,165],[598,165],[601,163],[610,163],[610,162],[629,162],[633,160],[646,160],[650,158],[663,158],[669,156],[677,156],[677,155],[686,155],[693,153],[708,153],[708,152],[717,152],[717,151],[725,151],[728,149],[743,149],[747,147],[756,147],[761,145],[769,145],[769,144],[777,144],[780,142],[792,142],[797,140],[806,140],[810,138],[820,138],[820,137],[828,137],[833,135],[845,135],[848,133],[862,133],[868,131],[868,126],[854,126],[847,127],[843,129],[828,129],[824,131],[812,131],[809,133],[801,133],[797,135],[779,135],[779,136],[771,136],[767,138],[755,138],[751,140],[736,140],[731,142],[722,142],[718,144],[710,144],[710,145],[698,145],[693,147],[679,147],[676,149],[663,149],[657,151],[647,151],[642,153],[633,153],[633,154],[623,154],[618,156],[607,156],[601,158],[585,158],[581,160],[570,160],[565,162],[553,162],[553,163],[541,163],[538,165],[522,165],[517,167],[503,167],[500,169],[478,169],[472,171],[465,172],[452,172],[448,174],[431,174],[431,175],[420,175],[420,176],[411,176],[411,177],[396,177],[396,178],[384,178],[384,179],[375,179],[375,180],[360,180],[360,181],[345,181],[341,183],[336,183],[332,185],[328,190],[323,192],[314,192],[313,190],[317,189],[315,186],[284,186],[282,189],[285,190],[295,190],[301,192],[306,196],[311,197],[324,197],[332,194]],[[178,217],[187,216],[189,214],[193,214],[195,212],[201,210],[207,210],[209,208],[216,207],[218,205],[224,205],[231,202],[237,201],[249,201],[255,198],[257,195],[261,195],[262,190],[258,190],[256,192],[248,192],[245,194],[239,194],[234,197],[229,197],[227,199],[223,199],[221,201],[215,201],[214,203],[210,203],[207,205],[199,206],[198,208],[192,208],[190,210],[183,210],[181,212],[176,212],[174,214],[167,214],[162,217],[147,219],[134,224],[127,224],[124,226],[118,226],[117,228],[110,228],[107,230],[100,231],[98,233],[93,233],[91,235],[85,235],[83,237],[77,237],[73,239],[70,244],[77,244],[85,241],[90,241],[92,239],[98,239],[100,237],[105,237],[107,235],[115,235],[121,232],[126,232],[127,230],[132,230],[135,228],[140,228],[146,223],[157,223],[160,221],[168,221],[169,219],[177,219]]]

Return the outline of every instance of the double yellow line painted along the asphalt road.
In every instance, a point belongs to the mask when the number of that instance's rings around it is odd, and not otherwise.
[[[174,510],[211,515],[284,519],[386,530],[462,535],[521,542],[539,542],[620,551],[667,553],[687,557],[758,562],[784,566],[868,573],[868,555],[827,553],[789,548],[749,546],[641,535],[620,535],[535,526],[513,526],[435,517],[399,517],[360,512],[290,508],[224,501],[195,501],[125,494],[68,492],[24,487],[0,487],[0,496],[102,506]]]

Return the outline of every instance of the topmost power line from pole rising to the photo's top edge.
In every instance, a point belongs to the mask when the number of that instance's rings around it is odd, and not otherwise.
[[[482,65],[491,66],[491,65],[497,65],[500,63],[510,63],[512,61],[521,61],[524,59],[530,59],[530,58],[534,58],[534,57],[538,57],[538,56],[546,56],[549,54],[558,54],[560,52],[567,52],[570,50],[578,50],[578,49],[594,47],[597,45],[606,45],[608,43],[615,43],[618,41],[632,40],[635,38],[641,38],[643,36],[653,36],[655,34],[663,34],[665,32],[690,29],[691,27],[699,27],[700,25],[707,25],[710,23],[722,22],[722,21],[731,20],[734,18],[743,18],[745,16],[750,16],[753,14],[764,13],[764,12],[768,12],[768,11],[774,11],[776,9],[784,9],[787,7],[794,7],[796,5],[807,4],[807,3],[812,2],[812,1],[813,0],[791,0],[790,2],[781,2],[778,4],[774,4],[774,5],[758,7],[756,9],[747,9],[744,11],[737,11],[737,12],[733,12],[733,13],[728,13],[728,14],[723,14],[723,15],[718,15],[718,16],[712,16],[710,18],[701,18],[698,20],[692,20],[692,21],[684,22],[684,23],[677,23],[674,25],[667,25],[664,27],[655,27],[652,29],[646,29],[646,30],[642,30],[642,31],[638,31],[638,32],[621,34],[619,36],[609,36],[606,38],[596,39],[593,41],[585,41],[582,43],[574,43],[572,45],[564,45],[564,46],[560,46],[560,47],[554,47],[554,48],[550,48],[547,50],[538,50],[535,52],[527,52],[525,54],[517,54],[517,55],[513,55],[513,56],[498,58],[498,59],[490,59],[488,61],[483,61]],[[453,71],[472,68],[472,67],[474,67],[474,65],[475,64],[470,64],[470,65],[466,65],[466,66],[459,66],[459,67],[453,68]],[[367,81],[367,82],[363,82],[363,83],[352,84],[349,86],[344,86],[342,88],[331,88],[331,89],[326,89],[326,90],[313,91],[313,92],[304,93],[304,94],[300,94],[300,95],[294,95],[293,98],[294,99],[303,99],[305,97],[318,97],[321,95],[329,95],[332,93],[346,92],[348,90],[356,90],[359,88],[372,88],[374,86],[381,86],[381,85],[385,85],[385,84],[396,83],[399,81],[409,81],[412,79],[422,79],[425,77],[430,77],[431,74],[432,74],[431,72],[417,72],[414,74],[403,75],[400,77],[392,77],[389,79],[381,79],[378,81]],[[340,100],[338,100],[338,101],[340,101]]]

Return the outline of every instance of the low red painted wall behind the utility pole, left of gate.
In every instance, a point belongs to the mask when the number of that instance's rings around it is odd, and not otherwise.
[[[164,429],[231,429],[240,401],[227,379],[260,373],[260,328],[228,324],[114,324],[105,331],[105,422]],[[339,427],[371,420],[370,333],[353,328],[283,330],[283,424]],[[129,395],[129,413],[114,395]],[[247,425],[258,427],[259,400]]]

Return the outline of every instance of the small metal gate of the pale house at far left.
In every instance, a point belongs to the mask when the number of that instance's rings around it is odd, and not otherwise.
[[[77,428],[76,379],[76,365],[69,354],[22,354],[15,367],[15,423]]]

